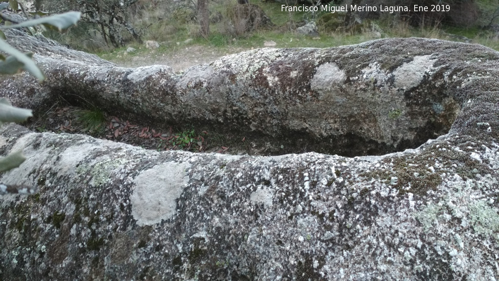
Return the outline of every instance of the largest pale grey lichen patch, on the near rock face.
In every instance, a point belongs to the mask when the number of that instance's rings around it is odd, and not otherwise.
[[[184,190],[187,163],[166,162],[142,171],[130,196],[132,215],[139,225],[152,225],[175,214]]]

